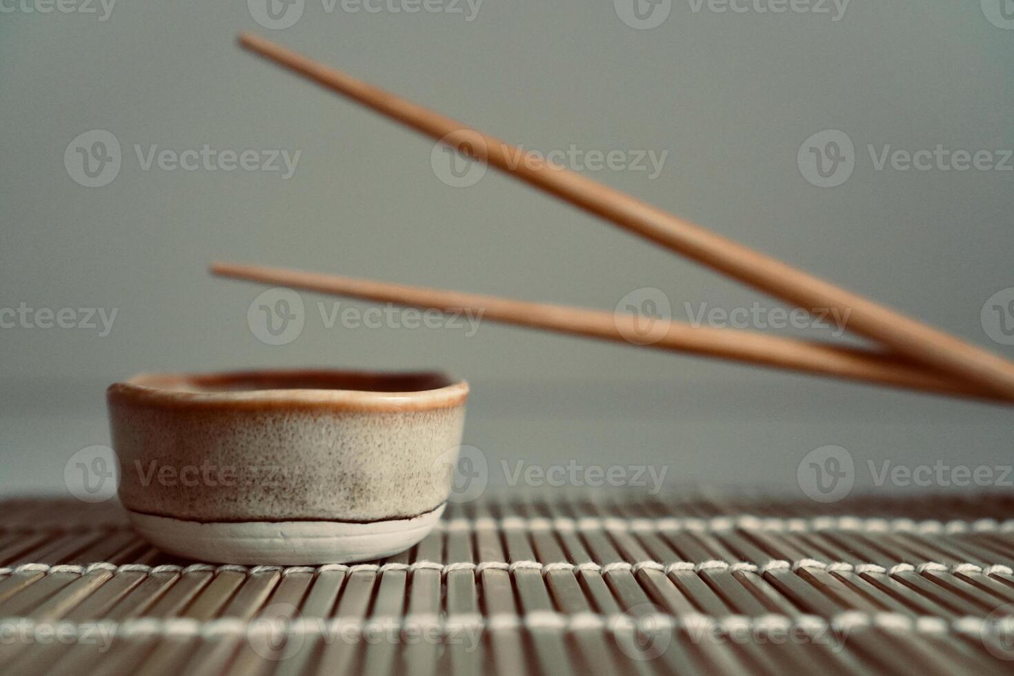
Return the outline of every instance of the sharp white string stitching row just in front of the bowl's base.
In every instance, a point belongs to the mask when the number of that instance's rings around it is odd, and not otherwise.
[[[880,564],[848,564],[846,561],[832,561],[824,562],[819,561],[814,558],[800,558],[799,560],[789,561],[783,559],[773,559],[766,561],[764,564],[752,564],[749,561],[727,561],[721,559],[711,559],[706,561],[671,561],[668,564],[663,564],[656,560],[644,560],[644,561],[611,561],[609,564],[596,564],[595,561],[584,561],[581,564],[571,564],[570,561],[553,561],[542,564],[534,560],[517,560],[517,561],[479,561],[478,564],[472,561],[457,561],[453,564],[438,564],[437,561],[427,561],[420,560],[414,561],[412,564],[402,564],[402,562],[389,562],[389,564],[325,564],[323,566],[211,566],[209,564],[192,564],[191,566],[145,566],[143,564],[125,564],[123,566],[116,566],[114,564],[107,564],[104,561],[99,561],[96,564],[88,564],[87,566],[78,565],[57,565],[51,566],[49,564],[20,564],[19,566],[14,566],[12,568],[0,568],[0,576],[7,575],[27,575],[27,574],[43,574],[43,575],[54,575],[54,574],[73,574],[73,575],[88,575],[93,573],[145,573],[145,574],[180,574],[188,575],[192,573],[223,573],[226,571],[243,573],[246,575],[261,575],[266,573],[279,573],[283,576],[303,574],[303,575],[314,575],[318,573],[325,573],[329,571],[337,571],[347,574],[355,573],[389,573],[394,571],[414,573],[416,571],[435,571],[440,575],[447,575],[449,573],[454,573],[458,571],[469,571],[476,574],[482,574],[486,571],[502,571],[505,573],[516,574],[518,571],[534,571],[541,575],[548,575],[550,573],[565,571],[569,573],[597,573],[600,575],[608,575],[610,573],[624,572],[624,573],[639,573],[641,571],[656,571],[658,573],[664,573],[669,575],[672,573],[680,572],[694,572],[694,573],[704,573],[704,572],[720,572],[728,571],[730,573],[745,572],[745,573],[759,573],[762,575],[767,573],[776,573],[779,571],[791,571],[793,573],[799,570],[820,570],[826,571],[828,573],[856,573],[856,574],[884,574],[889,576],[894,576],[899,573],[950,573],[953,575],[963,574],[984,574],[984,575],[1014,575],[1014,569],[1009,566],[1004,566],[1002,564],[994,564],[991,566],[980,566],[977,564],[962,562],[954,564],[952,566],[946,566],[944,564],[939,564],[936,561],[925,561],[921,564],[893,564],[893,565],[880,565]]]

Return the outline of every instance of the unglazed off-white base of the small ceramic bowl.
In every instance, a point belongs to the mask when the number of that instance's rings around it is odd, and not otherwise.
[[[348,521],[186,521],[128,510],[145,539],[171,554],[215,564],[321,566],[405,551],[440,520],[444,505],[409,519]]]

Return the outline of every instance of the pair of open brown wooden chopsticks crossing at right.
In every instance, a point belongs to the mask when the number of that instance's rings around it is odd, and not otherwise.
[[[943,394],[1014,401],[1014,364],[867,298],[796,270],[584,175],[357,80],[270,41],[240,44],[318,84],[438,139],[459,152],[611,221],[635,234],[807,309],[849,317],[849,328],[887,352],[668,322],[650,347]],[[523,156],[524,161],[517,161]],[[523,326],[627,342],[636,315],[494,298],[258,266],[215,264],[217,275],[441,310],[469,309]]]

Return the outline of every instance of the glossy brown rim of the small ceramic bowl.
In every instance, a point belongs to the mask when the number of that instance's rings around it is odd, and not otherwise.
[[[334,387],[249,387],[271,382],[335,381]],[[434,387],[357,389],[342,383],[378,383],[388,387],[399,382],[432,381]],[[174,389],[173,386],[195,389]],[[219,389],[215,389],[218,387]],[[345,369],[256,369],[213,373],[139,373],[105,390],[111,405],[159,406],[166,408],[278,410],[324,409],[333,411],[422,411],[461,406],[468,396],[468,383],[442,371],[358,371]]]

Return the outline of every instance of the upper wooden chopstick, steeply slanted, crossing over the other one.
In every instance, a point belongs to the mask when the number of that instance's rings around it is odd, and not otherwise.
[[[250,33],[240,44],[257,54],[459,151],[686,255],[740,282],[812,312],[838,310],[849,328],[893,351],[1014,397],[1014,364],[883,305],[796,270],[586,176],[549,164],[416,103]],[[517,158],[523,161],[517,161]],[[851,314],[845,315],[845,312]]]

